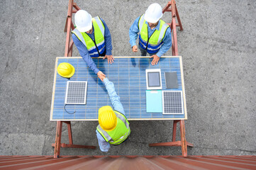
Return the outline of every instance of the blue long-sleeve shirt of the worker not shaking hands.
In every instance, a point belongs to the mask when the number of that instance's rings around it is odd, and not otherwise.
[[[140,32],[138,28],[138,22],[139,22],[140,16],[135,19],[133,25],[129,29],[129,36],[130,36],[130,45],[133,47],[136,45],[136,40],[138,38],[138,33]],[[146,21],[146,24],[148,22]],[[148,36],[150,37],[152,33],[154,33],[155,29],[159,30],[160,29],[160,22],[158,22],[157,26],[151,30],[150,26],[148,26]],[[164,42],[162,46],[160,47],[160,50],[157,52],[157,56],[161,57],[162,55],[165,54],[169,50],[170,47],[172,47],[172,33],[171,29],[167,28],[165,37],[162,39]]]

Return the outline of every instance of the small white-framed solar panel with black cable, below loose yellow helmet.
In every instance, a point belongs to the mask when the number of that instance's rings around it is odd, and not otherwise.
[[[67,81],[65,104],[87,103],[87,81]]]

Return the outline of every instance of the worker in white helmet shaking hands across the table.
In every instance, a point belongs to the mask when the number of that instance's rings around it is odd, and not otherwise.
[[[79,10],[74,16],[76,28],[72,31],[72,39],[77,46],[80,55],[88,66],[103,80],[105,74],[101,72],[91,57],[103,56],[108,59],[108,64],[113,62],[111,53],[111,34],[103,19],[91,15],[84,10]]]

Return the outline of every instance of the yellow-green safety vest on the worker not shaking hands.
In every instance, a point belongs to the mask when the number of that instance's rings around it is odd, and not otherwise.
[[[138,21],[138,28],[140,29],[140,47],[142,47],[144,50],[147,50],[150,54],[158,52],[158,50],[162,46],[162,39],[165,37],[165,33],[168,27],[169,26],[167,23],[165,23],[165,21],[160,20],[159,30],[155,29],[154,33],[152,33],[149,38],[148,24],[144,19],[144,14],[143,16],[140,16],[140,19]]]

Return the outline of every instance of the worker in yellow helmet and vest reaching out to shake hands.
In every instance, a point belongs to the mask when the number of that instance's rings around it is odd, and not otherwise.
[[[130,126],[113,83],[106,77],[104,77],[103,82],[113,109],[111,106],[99,108],[99,125],[97,126],[96,135],[101,151],[108,152],[110,145],[120,145],[128,139]]]

